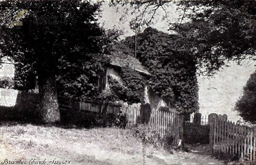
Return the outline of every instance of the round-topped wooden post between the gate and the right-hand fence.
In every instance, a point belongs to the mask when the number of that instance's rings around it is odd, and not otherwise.
[[[214,129],[215,129],[215,122],[218,114],[212,113],[208,115],[208,124],[210,126],[210,134],[209,134],[209,151],[213,152],[213,145],[214,145]]]

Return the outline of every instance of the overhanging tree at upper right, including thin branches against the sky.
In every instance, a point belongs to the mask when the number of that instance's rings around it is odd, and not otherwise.
[[[111,5],[136,14],[130,25],[139,30],[156,22],[157,14],[171,20],[168,11],[175,6],[180,17],[169,22],[170,30],[187,41],[184,48],[197,58],[201,74],[215,74],[226,60],[255,60],[255,0],[113,0]]]

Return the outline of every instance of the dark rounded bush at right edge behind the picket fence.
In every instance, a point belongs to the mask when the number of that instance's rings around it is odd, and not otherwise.
[[[239,112],[244,121],[256,123],[256,72],[250,75],[234,110]]]

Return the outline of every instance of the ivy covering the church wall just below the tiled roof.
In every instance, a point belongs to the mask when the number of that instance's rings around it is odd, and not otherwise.
[[[119,77],[108,76],[109,87],[100,96],[104,100],[137,103],[143,101],[145,80],[129,66],[121,68]]]

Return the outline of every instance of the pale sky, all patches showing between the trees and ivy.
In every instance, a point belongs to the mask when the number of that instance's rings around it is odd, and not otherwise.
[[[175,12],[175,6],[170,6],[170,19],[176,21],[178,14]],[[161,11],[160,11],[161,12]],[[114,26],[121,29],[124,35],[121,39],[134,35],[135,33],[129,28],[129,21],[133,17],[127,15],[126,21],[119,21],[122,10],[116,12],[115,7],[109,7],[107,3],[103,3],[102,6],[102,18],[99,19],[101,25],[105,28],[113,28]],[[161,13],[158,13],[161,14]],[[168,32],[169,25],[166,21],[161,20],[161,17],[156,17],[158,22],[152,27],[157,28],[160,31]],[[202,116],[207,116],[210,113],[227,114],[228,119],[235,121],[239,119],[236,112],[232,111],[236,100],[242,94],[242,88],[246,84],[250,74],[255,71],[254,64],[236,65],[230,63],[230,67],[224,68],[214,77],[198,77],[199,85],[199,104],[200,112]],[[3,65],[0,69],[0,77],[5,75],[12,77],[14,73],[11,65]]]

